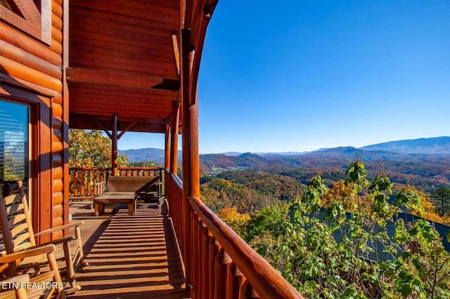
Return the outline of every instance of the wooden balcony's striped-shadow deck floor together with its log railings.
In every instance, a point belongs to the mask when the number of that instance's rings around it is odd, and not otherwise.
[[[96,217],[89,199],[108,170],[71,170],[70,211],[72,220],[84,220],[89,266],[77,273],[82,290],[69,298],[302,298],[200,199],[184,203],[183,182],[169,169],[119,173],[156,171],[165,173],[165,204],[140,201],[134,215],[108,206]]]

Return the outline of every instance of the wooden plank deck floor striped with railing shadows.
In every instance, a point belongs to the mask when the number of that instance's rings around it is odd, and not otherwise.
[[[89,204],[72,204],[72,220],[84,220],[89,266],[77,271],[81,291],[68,298],[186,298],[184,268],[172,224],[156,204],[139,204],[134,215]]]

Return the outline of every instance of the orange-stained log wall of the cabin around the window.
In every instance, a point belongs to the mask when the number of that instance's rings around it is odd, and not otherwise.
[[[27,90],[28,98],[1,88],[9,100],[29,102],[32,107],[32,215],[37,231],[63,225],[64,180],[68,128],[67,100],[63,100],[63,0],[42,0],[51,4],[51,44],[30,36],[0,19],[0,84]],[[33,97],[32,95],[36,96]],[[43,100],[44,99],[44,100]],[[68,199],[67,199],[68,200]],[[61,237],[61,236],[53,236]],[[41,240],[46,241],[46,240]]]

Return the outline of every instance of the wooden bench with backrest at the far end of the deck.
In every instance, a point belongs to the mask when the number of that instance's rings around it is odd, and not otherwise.
[[[97,183],[98,197],[94,198],[94,214],[96,216],[105,213],[105,204],[125,203],[128,204],[128,215],[136,212],[136,199],[153,195],[148,192],[149,185],[154,185],[155,177],[123,177],[110,176],[105,182]]]

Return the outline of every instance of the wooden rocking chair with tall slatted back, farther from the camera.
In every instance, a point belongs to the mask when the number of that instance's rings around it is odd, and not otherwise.
[[[69,225],[62,225],[60,227],[51,228],[34,234],[32,222],[30,219],[30,211],[28,209],[27,198],[23,191],[22,182],[18,182],[18,194],[10,195],[0,200],[0,225],[1,234],[6,253],[10,255],[18,251],[26,251],[29,248],[37,247],[35,237],[43,234],[51,234],[74,228],[75,235],[56,239],[46,244],[54,244],[56,251],[53,253],[57,261],[65,261],[65,272],[67,272],[70,288],[65,290],[66,293],[75,293],[80,286],[77,285],[75,279],[75,270],[78,266],[84,267],[87,263],[84,262],[84,253],[82,247],[81,232],[79,225],[83,222],[73,222]],[[1,197],[1,193],[0,193]],[[46,244],[40,244],[43,246]],[[24,255],[25,256],[25,255]],[[45,255],[37,255],[30,258],[23,258],[14,269],[10,265],[10,271],[16,274],[33,269],[39,272],[39,267],[48,263]],[[13,276],[10,272],[10,276]]]

